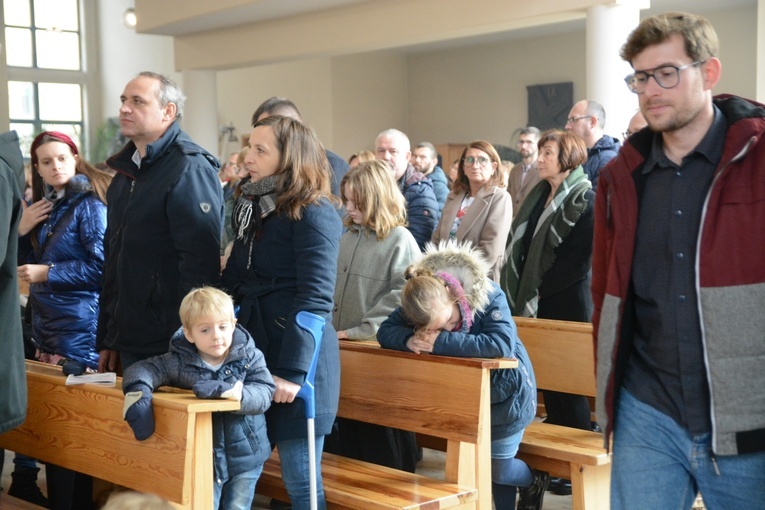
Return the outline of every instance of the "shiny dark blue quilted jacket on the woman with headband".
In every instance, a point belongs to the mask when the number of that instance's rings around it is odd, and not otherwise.
[[[104,267],[106,205],[77,174],[37,230],[19,239],[19,264],[49,265],[48,281],[29,288],[32,338],[47,353],[98,368],[96,326]]]

